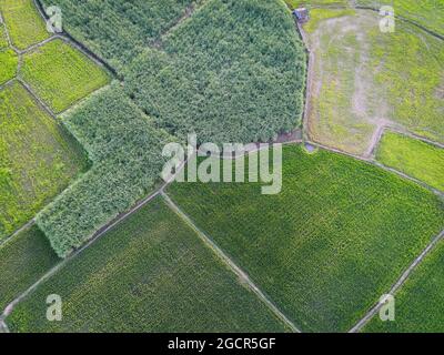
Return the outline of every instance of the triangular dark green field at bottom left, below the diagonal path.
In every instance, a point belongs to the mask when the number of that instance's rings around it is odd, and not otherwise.
[[[46,318],[48,295],[62,322]],[[7,318],[16,332],[283,332],[158,197],[60,270]]]

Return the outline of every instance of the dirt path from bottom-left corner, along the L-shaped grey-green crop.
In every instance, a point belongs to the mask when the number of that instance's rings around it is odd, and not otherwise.
[[[129,211],[120,214],[117,216],[114,220],[99,229],[92,236],[91,239],[80,248],[75,250],[73,253],[71,253],[68,257],[61,260],[59,264],[50,268],[43,276],[41,276],[34,284],[32,284],[27,291],[22,292],[19,296],[17,296],[12,302],[10,302],[7,307],[3,310],[3,312],[0,314],[0,323],[4,322],[7,317],[12,313],[13,308],[28,295],[30,295],[32,292],[34,292],[44,281],[53,276],[61,267],[63,267],[65,264],[68,264],[71,260],[75,258],[78,255],[80,255],[84,250],[87,250],[89,246],[91,246],[95,241],[98,241],[101,236],[103,236],[107,232],[112,230],[115,225],[119,223],[123,222],[128,217],[130,217],[132,214],[138,212],[140,209],[142,209],[144,205],[147,205],[149,202],[161,195],[163,190],[170,185],[172,182],[174,182],[175,178],[178,174],[181,173],[182,169],[184,169],[186,164],[186,161],[184,161],[176,170],[175,174],[172,175],[167,182],[164,182],[157,191],[150,193],[147,197],[143,200],[139,201],[132,209]],[[7,325],[7,324],[6,324]]]

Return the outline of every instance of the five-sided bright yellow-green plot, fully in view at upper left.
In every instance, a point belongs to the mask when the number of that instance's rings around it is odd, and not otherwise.
[[[56,113],[110,81],[103,68],[60,39],[26,54],[21,74]]]

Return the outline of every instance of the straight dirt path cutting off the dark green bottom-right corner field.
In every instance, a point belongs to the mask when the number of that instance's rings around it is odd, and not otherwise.
[[[422,263],[422,261],[432,252],[435,246],[444,240],[444,230],[435,236],[432,242],[427,244],[427,246],[423,250],[423,252],[413,261],[413,263],[407,267],[407,270],[401,275],[401,277],[396,281],[396,283],[389,291],[389,294],[394,296],[408,280],[410,275],[416,270],[416,267]],[[381,310],[384,304],[377,302],[366,314],[365,316],[356,323],[356,325],[350,329],[349,333],[357,333],[360,332]]]

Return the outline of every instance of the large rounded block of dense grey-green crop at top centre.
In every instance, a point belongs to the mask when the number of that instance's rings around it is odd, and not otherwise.
[[[284,3],[210,1],[163,48],[132,63],[125,87],[169,132],[269,141],[300,123],[305,54]]]

